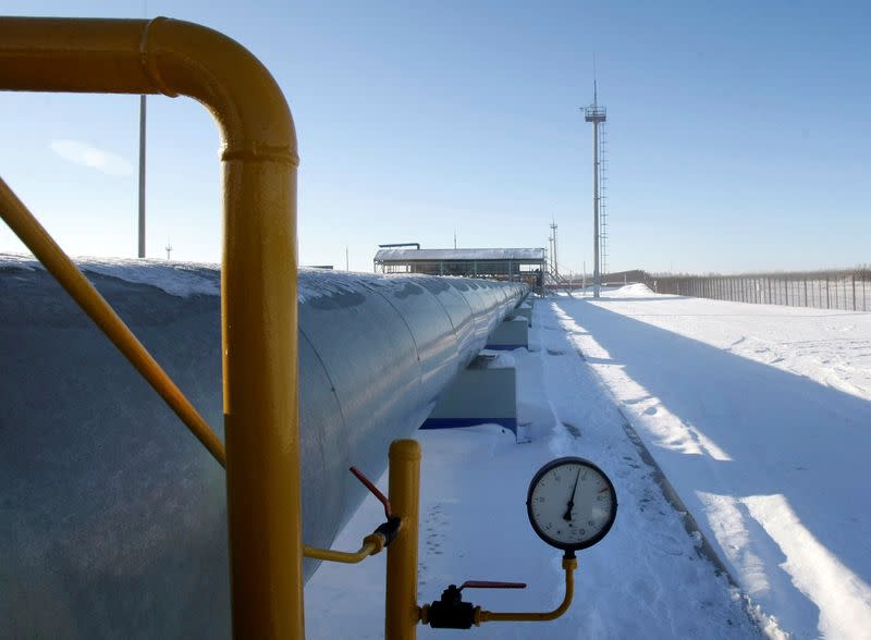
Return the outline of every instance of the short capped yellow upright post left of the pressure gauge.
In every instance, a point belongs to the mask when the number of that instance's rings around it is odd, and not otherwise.
[[[417,538],[420,510],[420,444],[395,440],[390,445],[390,505],[402,518],[396,539],[388,546],[384,638],[414,640],[417,606]]]

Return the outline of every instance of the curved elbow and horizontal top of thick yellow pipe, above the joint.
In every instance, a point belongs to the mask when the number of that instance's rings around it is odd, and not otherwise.
[[[0,89],[188,96],[212,113],[224,160],[299,164],[281,89],[247,49],[167,17],[0,17]]]

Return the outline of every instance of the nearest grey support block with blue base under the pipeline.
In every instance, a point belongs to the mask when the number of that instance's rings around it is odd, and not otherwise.
[[[519,323],[526,327],[525,322]],[[517,434],[517,371],[480,355],[439,397],[421,429],[501,424]]]

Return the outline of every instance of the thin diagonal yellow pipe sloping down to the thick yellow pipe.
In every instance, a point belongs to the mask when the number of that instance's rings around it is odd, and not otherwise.
[[[203,416],[2,177],[0,177],[0,218],[175,411],[194,436],[209,450],[221,466],[224,466],[224,444]]]

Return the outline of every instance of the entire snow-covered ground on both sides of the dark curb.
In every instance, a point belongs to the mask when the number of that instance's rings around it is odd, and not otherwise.
[[[617,521],[579,554],[576,600],[560,620],[420,627],[421,638],[871,637],[871,315],[630,286],[598,301],[540,301],[530,352],[511,357],[530,442],[496,427],[417,435],[419,602],[466,579],[529,583],[465,592],[493,611],[560,602],[560,555],[524,506],[553,457],[600,465],[617,490]],[[700,553],[625,421],[740,589]],[[335,546],[356,547],[379,515],[364,504]],[[383,556],[322,565],[306,589],[309,636],[381,637],[383,575]]]

